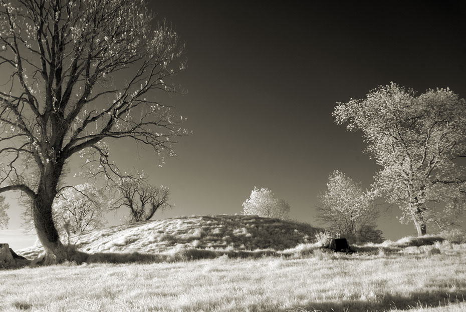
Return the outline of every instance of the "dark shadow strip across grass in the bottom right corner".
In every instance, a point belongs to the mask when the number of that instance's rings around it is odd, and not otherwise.
[[[466,289],[457,291],[432,290],[411,292],[408,296],[379,295],[369,300],[345,300],[341,302],[308,302],[302,307],[285,308],[283,312],[326,312],[326,311],[391,311],[412,308],[442,307],[448,304],[464,302]]]

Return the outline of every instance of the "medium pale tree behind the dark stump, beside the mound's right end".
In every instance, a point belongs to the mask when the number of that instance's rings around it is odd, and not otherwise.
[[[327,190],[319,196],[318,220],[331,231],[363,239],[373,237],[379,211],[371,194],[345,174],[334,171],[329,176]]]

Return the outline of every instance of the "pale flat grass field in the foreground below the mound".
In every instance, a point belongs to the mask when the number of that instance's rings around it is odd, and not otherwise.
[[[466,245],[0,271],[1,311],[465,311]]]

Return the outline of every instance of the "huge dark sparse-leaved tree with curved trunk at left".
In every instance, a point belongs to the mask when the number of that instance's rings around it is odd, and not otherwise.
[[[174,92],[184,45],[152,23],[145,1],[0,0],[0,193],[30,197],[47,252],[63,261],[53,220],[64,167],[74,155],[90,175],[123,177],[106,142],[129,138],[173,154],[183,118],[155,100]],[[155,27],[154,27],[154,24]]]

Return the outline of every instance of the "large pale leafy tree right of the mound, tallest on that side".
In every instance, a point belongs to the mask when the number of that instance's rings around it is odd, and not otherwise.
[[[361,130],[367,150],[382,166],[373,185],[402,210],[400,221],[414,222],[418,235],[429,222],[452,225],[465,209],[466,101],[449,89],[417,95],[395,83],[365,99],[339,103],[339,124]]]

